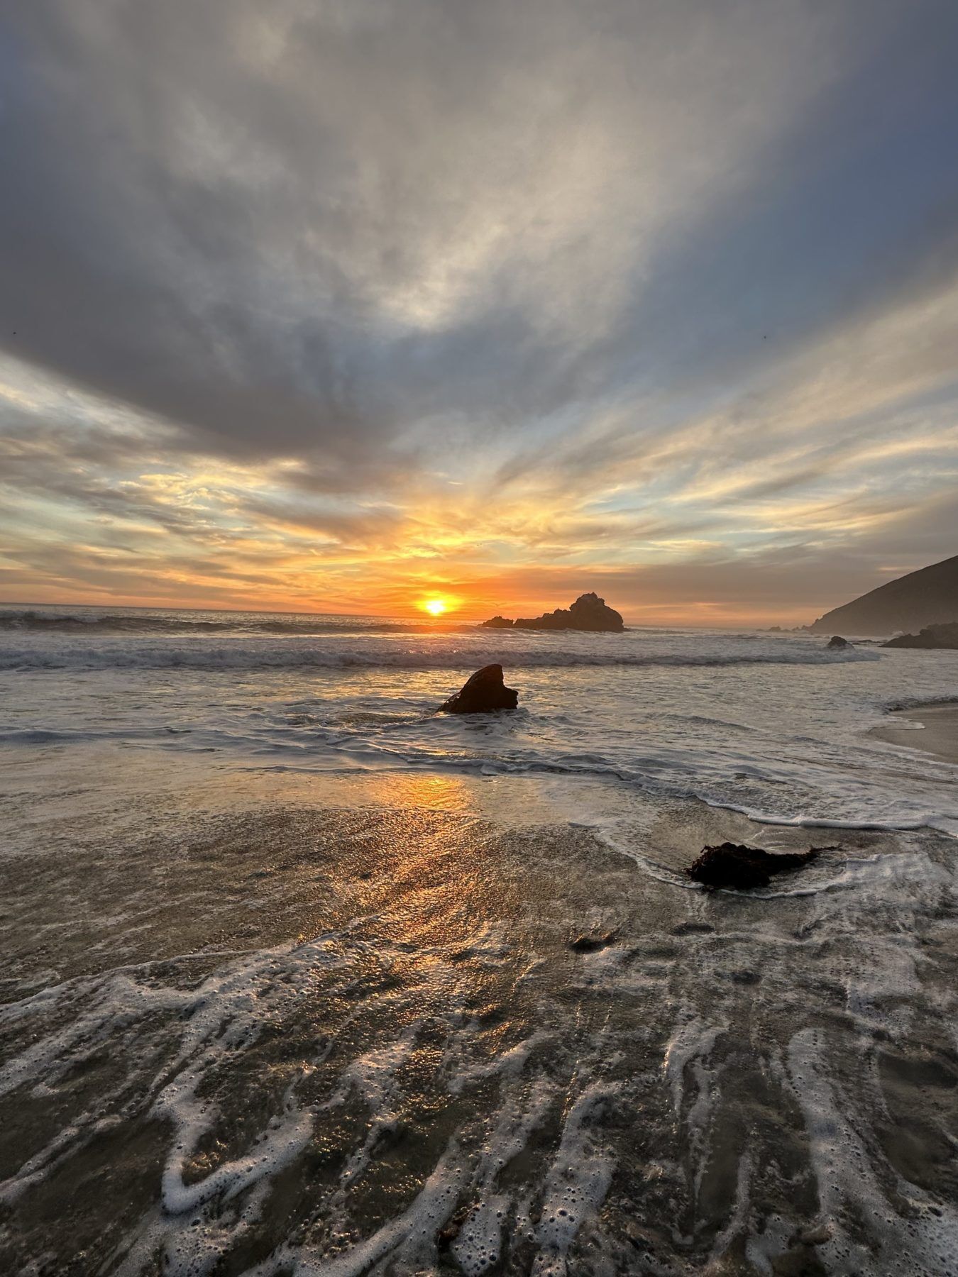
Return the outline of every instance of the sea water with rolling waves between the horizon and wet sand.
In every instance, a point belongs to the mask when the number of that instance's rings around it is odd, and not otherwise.
[[[498,661],[515,714],[436,715]],[[958,654],[819,636],[503,632],[401,619],[0,609],[0,741],[255,766],[608,776],[787,822],[958,833],[954,767],[869,736],[958,696]]]

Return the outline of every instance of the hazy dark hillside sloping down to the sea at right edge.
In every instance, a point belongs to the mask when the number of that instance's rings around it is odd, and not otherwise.
[[[826,612],[814,633],[890,635],[958,621],[958,554],[899,576],[852,603]]]

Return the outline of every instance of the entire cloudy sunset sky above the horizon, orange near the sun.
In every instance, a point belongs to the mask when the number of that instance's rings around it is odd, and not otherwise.
[[[0,0],[0,600],[796,624],[958,553],[954,0]]]

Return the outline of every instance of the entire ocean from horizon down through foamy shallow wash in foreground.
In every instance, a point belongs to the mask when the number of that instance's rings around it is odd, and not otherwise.
[[[437,715],[489,661],[520,707]],[[0,1267],[958,1271],[958,767],[874,734],[957,699],[810,635],[0,608]],[[705,893],[726,838],[824,850]]]

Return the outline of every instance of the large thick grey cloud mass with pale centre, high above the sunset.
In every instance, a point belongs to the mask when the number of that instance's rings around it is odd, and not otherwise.
[[[505,0],[13,17],[4,340],[204,447],[346,458],[562,404],[669,220],[828,78],[837,26]]]

